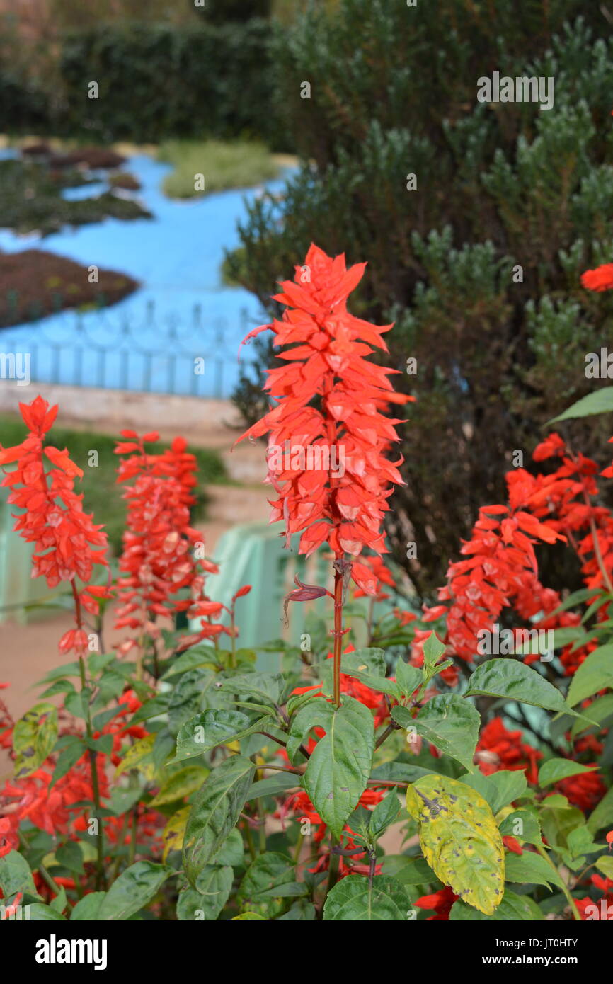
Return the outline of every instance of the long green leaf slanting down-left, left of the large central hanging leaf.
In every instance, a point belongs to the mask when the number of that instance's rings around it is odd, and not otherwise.
[[[199,873],[236,826],[254,772],[249,759],[234,755],[213,769],[197,794],[183,842],[183,864],[193,888]]]

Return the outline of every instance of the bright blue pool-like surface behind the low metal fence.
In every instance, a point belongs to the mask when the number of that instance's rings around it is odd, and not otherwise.
[[[2,348],[30,350],[31,376],[38,382],[226,397],[238,378],[239,342],[262,320],[262,311],[252,294],[222,284],[220,266],[224,249],[239,245],[236,226],[246,216],[245,200],[263,188],[176,201],[161,192],[170,165],[140,154],[122,170],[140,180],[134,197],[153,218],[107,218],[44,239],[0,229],[0,250],[48,250],[87,267],[129,274],[142,286],[103,312],[63,311],[9,329],[2,333]],[[286,176],[266,188],[280,192]],[[106,187],[97,181],[64,194],[87,198]],[[202,374],[194,373],[195,357],[205,360]],[[244,348],[243,363],[249,358]]]

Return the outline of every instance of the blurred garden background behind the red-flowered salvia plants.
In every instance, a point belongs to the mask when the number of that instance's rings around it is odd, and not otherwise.
[[[368,261],[353,311],[396,323],[384,359],[417,401],[388,541],[406,595],[434,598],[514,455],[530,467],[542,425],[606,384],[584,355],[613,300],[580,277],[613,255],[612,29],[607,0],[0,0],[1,347],[31,355],[29,388],[0,380],[2,444],[18,400],[59,402],[78,461],[107,449],[85,495],[117,550],[111,436],[182,433],[228,572],[212,593],[270,583],[265,449],[229,449],[275,352],[236,352],[315,241]],[[553,78],[553,108],[478,102],[495,71]],[[604,464],[600,421],[574,434]],[[58,632],[21,625],[40,588],[3,557],[9,679],[14,633],[48,664]],[[555,549],[543,563],[579,585]],[[278,635],[250,604],[243,631]]]

